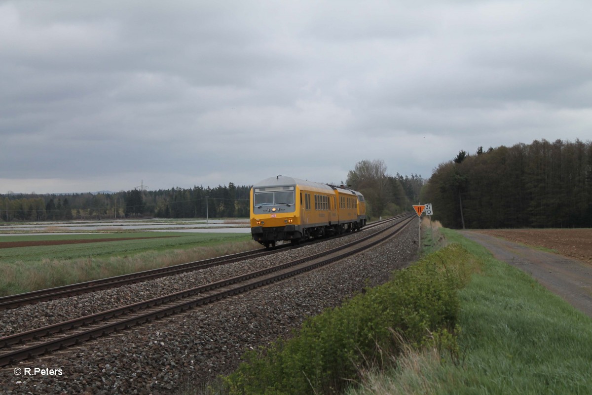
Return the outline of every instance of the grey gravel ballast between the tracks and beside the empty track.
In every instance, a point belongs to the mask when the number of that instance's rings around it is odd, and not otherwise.
[[[349,237],[362,237],[356,233]],[[0,388],[7,394],[166,394],[185,381],[203,382],[231,372],[244,350],[287,335],[327,307],[359,292],[366,285],[384,282],[393,269],[402,268],[417,250],[417,233],[408,226],[397,237],[354,255],[346,261],[324,266],[277,284],[234,296],[220,303],[178,314],[108,338],[88,342],[34,361],[24,361],[0,371]],[[56,300],[9,310],[0,316],[10,332],[50,322],[81,312],[104,310],[105,306],[133,303],[157,294],[170,293],[211,282],[231,273],[253,271],[279,264],[297,256],[310,255],[346,240],[331,240],[313,246],[281,252],[237,264],[217,266],[175,277],[133,284],[115,290]],[[273,262],[269,262],[273,261]],[[237,270],[237,271],[236,271]],[[219,276],[219,277],[218,277]],[[126,288],[125,290],[123,288]],[[129,289],[127,289],[129,288]],[[43,305],[43,306],[41,306]],[[21,317],[21,319],[18,319]],[[54,374],[15,375],[14,369],[47,368]],[[60,375],[59,372],[62,374]],[[47,373],[47,372],[46,372]]]

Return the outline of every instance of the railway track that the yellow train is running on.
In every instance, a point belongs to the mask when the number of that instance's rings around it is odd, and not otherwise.
[[[395,219],[398,217],[395,217]],[[389,220],[378,221],[366,226],[363,230],[384,224]],[[328,239],[315,240],[316,243]],[[303,244],[304,245],[304,244]],[[63,285],[62,287],[46,288],[44,290],[31,291],[28,293],[15,294],[0,297],[0,311],[14,309],[15,307],[26,306],[27,304],[39,303],[42,301],[55,300],[80,294],[92,293],[96,291],[107,290],[109,288],[121,287],[122,285],[135,284],[137,282],[154,280],[155,278],[176,275],[185,272],[202,270],[218,265],[226,265],[232,262],[242,261],[243,259],[253,259],[259,256],[270,255],[285,248],[294,248],[294,246],[285,244],[277,246],[271,250],[256,249],[252,251],[239,252],[232,255],[218,256],[217,258],[204,259],[202,261],[188,262],[185,264],[167,266],[165,268],[151,269],[147,271],[124,274],[116,277],[102,278],[79,282],[77,284]]]

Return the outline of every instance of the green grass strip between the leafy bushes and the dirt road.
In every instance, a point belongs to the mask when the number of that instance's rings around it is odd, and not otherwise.
[[[409,352],[348,395],[590,393],[592,320],[477,243],[440,232],[483,262],[459,291],[460,358]]]

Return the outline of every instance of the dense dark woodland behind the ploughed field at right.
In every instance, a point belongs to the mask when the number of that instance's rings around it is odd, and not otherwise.
[[[535,140],[441,163],[422,191],[452,228],[592,226],[592,143]]]

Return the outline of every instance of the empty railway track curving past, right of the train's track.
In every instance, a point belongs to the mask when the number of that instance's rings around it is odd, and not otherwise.
[[[0,366],[67,348],[327,265],[381,243],[400,232],[412,220],[411,217],[392,220],[393,224],[386,229],[355,242],[272,268],[250,272],[67,322],[5,336],[0,338]]]

